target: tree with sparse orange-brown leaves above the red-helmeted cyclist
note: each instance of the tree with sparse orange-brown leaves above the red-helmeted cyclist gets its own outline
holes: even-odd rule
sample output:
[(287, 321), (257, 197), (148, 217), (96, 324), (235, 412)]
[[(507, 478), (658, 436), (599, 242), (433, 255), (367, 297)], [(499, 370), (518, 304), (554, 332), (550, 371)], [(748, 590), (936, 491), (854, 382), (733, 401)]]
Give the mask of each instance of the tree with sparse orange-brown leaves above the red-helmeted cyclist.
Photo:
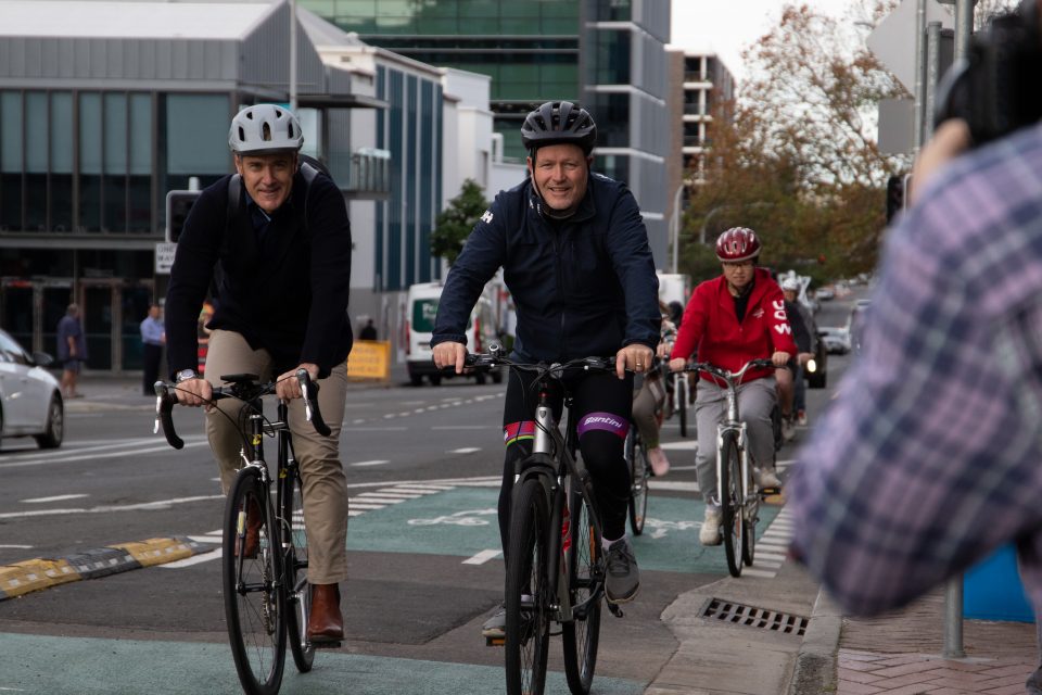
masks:
[(910, 164), (876, 143), (879, 101), (906, 96), (864, 41), (864, 27), (891, 8), (852, 2), (851, 18), (838, 21), (787, 4), (747, 49), (752, 77), (714, 114), (707, 182), (687, 210), (682, 253), (692, 277), (720, 271), (708, 244), (736, 225), (761, 233), (762, 262), (779, 270), (827, 279), (874, 267), (887, 178)]

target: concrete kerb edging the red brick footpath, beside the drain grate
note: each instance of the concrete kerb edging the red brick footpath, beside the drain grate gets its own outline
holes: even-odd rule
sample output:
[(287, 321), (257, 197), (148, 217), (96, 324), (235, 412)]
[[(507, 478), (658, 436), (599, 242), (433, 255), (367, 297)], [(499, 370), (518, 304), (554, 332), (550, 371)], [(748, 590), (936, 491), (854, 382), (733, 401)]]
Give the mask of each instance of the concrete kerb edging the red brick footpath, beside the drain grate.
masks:
[(839, 606), (821, 589), (796, 657), (788, 695), (836, 692), (836, 656), (842, 627), (843, 616)]

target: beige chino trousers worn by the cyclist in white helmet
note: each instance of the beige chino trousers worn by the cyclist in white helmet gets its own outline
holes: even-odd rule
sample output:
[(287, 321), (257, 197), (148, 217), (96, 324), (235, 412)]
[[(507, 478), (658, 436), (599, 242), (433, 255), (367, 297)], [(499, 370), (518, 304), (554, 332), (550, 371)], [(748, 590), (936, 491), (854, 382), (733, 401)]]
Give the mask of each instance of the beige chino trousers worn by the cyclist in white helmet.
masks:
[[(215, 387), (221, 386), (221, 375), (231, 374), (255, 374), (266, 381), (278, 376), (271, 374), (271, 356), (266, 350), (253, 350), (237, 332), (215, 330), (209, 336), (205, 374), (206, 380)], [(320, 379), (318, 384), (318, 407), (329, 425), (330, 435), (321, 437), (307, 421), (303, 399), (290, 401), (289, 419), (293, 452), (301, 467), (304, 489), (307, 579), (313, 584), (333, 584), (347, 579), (347, 478), (340, 463), (340, 428), (347, 397), (347, 363), (333, 368), (329, 377)], [(225, 494), (228, 494), (236, 471), (242, 466), (242, 435), (236, 427), (242, 407), (242, 403), (234, 399), (225, 399), (206, 414), (206, 435), (217, 458), (220, 488)], [(274, 451), (274, 447), (268, 448)], [(268, 463), (275, 466), (274, 460)], [(274, 475), (274, 468), (270, 470)]]

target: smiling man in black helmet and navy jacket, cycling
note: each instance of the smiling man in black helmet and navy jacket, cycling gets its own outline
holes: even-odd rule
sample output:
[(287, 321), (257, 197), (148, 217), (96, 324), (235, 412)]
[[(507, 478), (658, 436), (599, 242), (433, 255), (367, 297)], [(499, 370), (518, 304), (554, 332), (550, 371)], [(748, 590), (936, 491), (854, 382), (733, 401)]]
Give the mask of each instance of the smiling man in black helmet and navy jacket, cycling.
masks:
[[(623, 444), (630, 427), (633, 371), (651, 367), (661, 314), (658, 279), (636, 200), (624, 184), (590, 172), (597, 126), (567, 101), (547, 102), (521, 128), (529, 178), (500, 192), (453, 264), (437, 307), (434, 363), (463, 370), (467, 319), (501, 266), (517, 308), (513, 357), (564, 362), (617, 355), (615, 374), (570, 378), (579, 445), (603, 519), (608, 601), (631, 601), (639, 586), (625, 534), (630, 471)], [(628, 370), (628, 371), (627, 371)], [(506, 459), (499, 534), (508, 547), (514, 465), (532, 451), (531, 375), (510, 375), (503, 426)], [(560, 402), (557, 404), (560, 416)], [(483, 626), (504, 634), (500, 607)]]

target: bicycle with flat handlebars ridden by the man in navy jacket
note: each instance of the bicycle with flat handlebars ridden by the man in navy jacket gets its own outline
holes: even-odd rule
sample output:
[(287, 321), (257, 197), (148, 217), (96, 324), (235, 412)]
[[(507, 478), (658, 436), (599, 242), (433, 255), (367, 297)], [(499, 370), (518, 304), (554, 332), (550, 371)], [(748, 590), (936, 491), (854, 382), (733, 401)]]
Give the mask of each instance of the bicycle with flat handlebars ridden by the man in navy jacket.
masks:
[[(507, 366), (535, 374), (535, 441), (518, 464), (510, 506), (507, 548), (506, 678), (508, 695), (541, 695), (551, 630), (564, 643), (564, 674), (574, 695), (586, 695), (594, 679), (606, 558), (601, 523), (589, 472), (576, 459), (576, 415), (562, 379), (581, 370), (613, 371), (613, 358), (586, 357), (563, 364), (516, 363), (494, 345), (468, 354), (468, 367)], [(563, 392), (564, 434), (554, 420), (550, 399)], [(613, 615), (622, 610), (608, 604)]]

